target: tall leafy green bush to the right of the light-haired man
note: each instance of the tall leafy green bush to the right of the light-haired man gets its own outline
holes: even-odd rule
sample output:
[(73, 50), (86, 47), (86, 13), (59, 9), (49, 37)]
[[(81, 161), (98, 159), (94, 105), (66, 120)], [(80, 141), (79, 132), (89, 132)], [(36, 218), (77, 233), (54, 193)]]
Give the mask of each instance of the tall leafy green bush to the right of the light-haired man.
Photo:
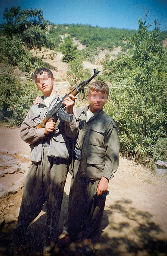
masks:
[(129, 40), (132, 48), (112, 60), (106, 56), (103, 79), (112, 86), (106, 111), (119, 127), (121, 152), (136, 161), (166, 161), (166, 63), (159, 44), (159, 24), (148, 31), (139, 20), (139, 29)]

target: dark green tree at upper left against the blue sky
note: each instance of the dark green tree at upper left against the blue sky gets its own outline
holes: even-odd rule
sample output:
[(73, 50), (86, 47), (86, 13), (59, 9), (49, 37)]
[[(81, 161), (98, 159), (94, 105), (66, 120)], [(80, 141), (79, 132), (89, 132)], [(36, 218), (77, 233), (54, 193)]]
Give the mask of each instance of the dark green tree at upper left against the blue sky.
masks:
[(3, 13), (5, 22), (1, 25), (6, 37), (13, 40), (20, 38), (27, 49), (41, 51), (42, 47), (54, 48), (54, 42), (47, 34), (47, 26), (50, 24), (43, 18), (42, 9), (21, 10), (20, 6), (14, 6)]

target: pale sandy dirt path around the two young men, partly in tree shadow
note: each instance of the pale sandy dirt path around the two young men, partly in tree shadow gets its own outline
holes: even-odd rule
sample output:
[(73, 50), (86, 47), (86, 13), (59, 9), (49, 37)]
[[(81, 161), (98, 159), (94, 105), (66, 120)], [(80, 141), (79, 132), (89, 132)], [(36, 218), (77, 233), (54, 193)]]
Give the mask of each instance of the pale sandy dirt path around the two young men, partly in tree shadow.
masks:
[[(17, 149), (19, 153), (29, 155), (29, 145), (19, 136), (20, 129), (0, 127), (0, 148)], [(6, 175), (12, 183), (12, 174)], [(0, 178), (3, 184), (4, 178)], [(165, 256), (167, 255), (167, 177), (157, 177), (141, 165), (120, 158), (120, 165), (114, 178), (109, 182), (110, 194), (101, 226), (101, 237), (95, 243), (96, 256)], [(63, 228), (67, 212), (70, 187), (70, 175), (64, 189), (64, 197), (57, 235)], [(0, 199), (1, 205), (13, 202), (6, 212), (18, 214), (22, 190)], [(4, 214), (4, 213), (3, 213)], [(2, 215), (3, 215), (2, 214)], [(42, 255), (43, 223), (46, 219), (45, 209), (28, 228), (29, 248), (21, 255)], [(11, 240), (11, 231), (16, 223), (5, 224), (0, 235), (0, 255), (15, 255)], [(55, 247), (52, 255), (82, 255), (80, 243), (73, 243), (68, 249)]]

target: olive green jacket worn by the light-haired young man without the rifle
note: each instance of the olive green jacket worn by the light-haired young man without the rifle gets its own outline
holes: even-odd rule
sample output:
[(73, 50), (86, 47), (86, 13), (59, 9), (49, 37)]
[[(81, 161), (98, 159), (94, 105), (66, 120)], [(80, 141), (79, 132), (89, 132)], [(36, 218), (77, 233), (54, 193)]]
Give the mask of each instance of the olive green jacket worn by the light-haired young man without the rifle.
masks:
[(110, 180), (119, 164), (118, 129), (114, 119), (103, 110), (86, 123), (87, 110), (88, 107), (76, 109), (79, 134), (75, 147), (81, 150), (77, 175), (93, 180), (104, 176)]

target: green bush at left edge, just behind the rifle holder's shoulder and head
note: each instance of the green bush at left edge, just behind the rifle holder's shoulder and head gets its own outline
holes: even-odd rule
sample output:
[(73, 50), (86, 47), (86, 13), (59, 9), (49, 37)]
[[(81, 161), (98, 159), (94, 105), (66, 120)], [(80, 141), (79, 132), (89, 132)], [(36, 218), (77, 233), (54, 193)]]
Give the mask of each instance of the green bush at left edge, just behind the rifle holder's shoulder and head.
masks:
[[(4, 72), (12, 73), (12, 69), (6, 67)], [(22, 84), (20, 79), (3, 73), (0, 73), (0, 86), (0, 119), (7, 117), (11, 125), (21, 125), (39, 89), (32, 82)]]

